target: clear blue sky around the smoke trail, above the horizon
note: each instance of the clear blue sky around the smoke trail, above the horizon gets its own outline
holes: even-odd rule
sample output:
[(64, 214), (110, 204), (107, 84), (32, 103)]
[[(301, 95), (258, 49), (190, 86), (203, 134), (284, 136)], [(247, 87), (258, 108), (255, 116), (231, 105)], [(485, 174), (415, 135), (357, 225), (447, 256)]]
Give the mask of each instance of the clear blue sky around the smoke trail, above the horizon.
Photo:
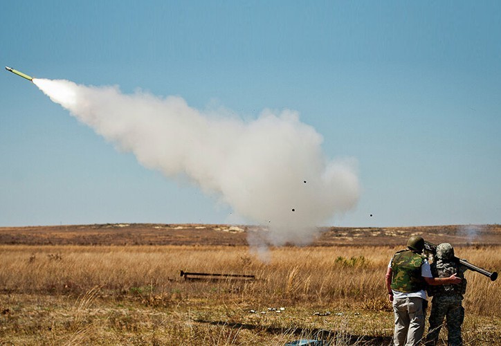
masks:
[[(0, 57), (247, 118), (299, 111), (329, 158), (358, 161), (361, 198), (333, 226), (499, 224), (500, 18), (499, 1), (18, 1)], [(228, 221), (26, 80), (3, 70), (0, 95), (0, 226)]]

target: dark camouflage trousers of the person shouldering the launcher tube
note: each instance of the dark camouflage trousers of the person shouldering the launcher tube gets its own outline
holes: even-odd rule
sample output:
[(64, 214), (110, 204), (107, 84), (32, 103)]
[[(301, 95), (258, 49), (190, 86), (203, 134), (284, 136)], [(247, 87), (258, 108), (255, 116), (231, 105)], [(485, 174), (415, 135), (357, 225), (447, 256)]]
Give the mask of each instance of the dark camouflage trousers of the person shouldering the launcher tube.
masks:
[(464, 308), (462, 307), (462, 295), (435, 295), (432, 300), (430, 313), (430, 327), (426, 336), (426, 345), (437, 345), (440, 329), (446, 325), (448, 330), (447, 341), (448, 345), (459, 346), (463, 345), (461, 338), (461, 325), (464, 320)]

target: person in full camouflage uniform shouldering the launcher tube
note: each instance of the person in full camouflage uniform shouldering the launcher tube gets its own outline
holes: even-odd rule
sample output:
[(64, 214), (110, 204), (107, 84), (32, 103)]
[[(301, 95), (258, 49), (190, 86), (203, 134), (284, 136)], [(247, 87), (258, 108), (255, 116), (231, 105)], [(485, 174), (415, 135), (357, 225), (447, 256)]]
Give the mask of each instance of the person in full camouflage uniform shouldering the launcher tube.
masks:
[(462, 306), (463, 295), (466, 292), (466, 279), (464, 272), (466, 266), (462, 266), (454, 260), (454, 248), (448, 243), (437, 245), (435, 258), (431, 265), (434, 277), (447, 277), (456, 273), (461, 277), (461, 284), (432, 286), (428, 294), (433, 296), (430, 318), (430, 327), (426, 336), (426, 345), (437, 345), (440, 329), (446, 318), (448, 330), (448, 345), (463, 345), (461, 338), (461, 325), (464, 320), (464, 308)]

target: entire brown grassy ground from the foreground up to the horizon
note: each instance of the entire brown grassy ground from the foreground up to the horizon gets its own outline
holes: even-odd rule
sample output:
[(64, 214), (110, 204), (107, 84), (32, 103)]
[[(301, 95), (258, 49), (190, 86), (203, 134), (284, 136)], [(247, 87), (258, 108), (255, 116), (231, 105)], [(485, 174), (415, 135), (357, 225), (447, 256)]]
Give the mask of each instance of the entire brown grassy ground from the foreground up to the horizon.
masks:
[[(225, 225), (0, 228), (0, 345), (283, 345), (316, 337), (389, 345), (383, 277), (411, 234), (450, 242), (477, 266), (501, 268), (499, 225), (326, 228), (311, 246), (258, 254), (246, 237), (259, 232)], [(257, 280), (185, 281), (181, 270)], [(500, 345), (501, 280), (466, 278), (465, 343)]]

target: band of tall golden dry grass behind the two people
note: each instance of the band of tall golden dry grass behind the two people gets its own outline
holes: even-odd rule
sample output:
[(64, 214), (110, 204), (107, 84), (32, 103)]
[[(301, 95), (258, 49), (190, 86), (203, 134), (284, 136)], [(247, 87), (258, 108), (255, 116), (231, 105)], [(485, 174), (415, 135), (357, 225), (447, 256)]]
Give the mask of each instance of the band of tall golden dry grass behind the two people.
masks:
[[(79, 296), (101, 291), (152, 307), (188, 298), (259, 304), (308, 304), (384, 310), (384, 274), (397, 248), (342, 246), (274, 248), (261, 262), (246, 247), (229, 246), (0, 246), (0, 289), (12, 293)], [(473, 264), (501, 267), (499, 247), (457, 248)], [(258, 280), (184, 282), (180, 270), (255, 275)], [(495, 316), (499, 281), (466, 273), (466, 310)]]

